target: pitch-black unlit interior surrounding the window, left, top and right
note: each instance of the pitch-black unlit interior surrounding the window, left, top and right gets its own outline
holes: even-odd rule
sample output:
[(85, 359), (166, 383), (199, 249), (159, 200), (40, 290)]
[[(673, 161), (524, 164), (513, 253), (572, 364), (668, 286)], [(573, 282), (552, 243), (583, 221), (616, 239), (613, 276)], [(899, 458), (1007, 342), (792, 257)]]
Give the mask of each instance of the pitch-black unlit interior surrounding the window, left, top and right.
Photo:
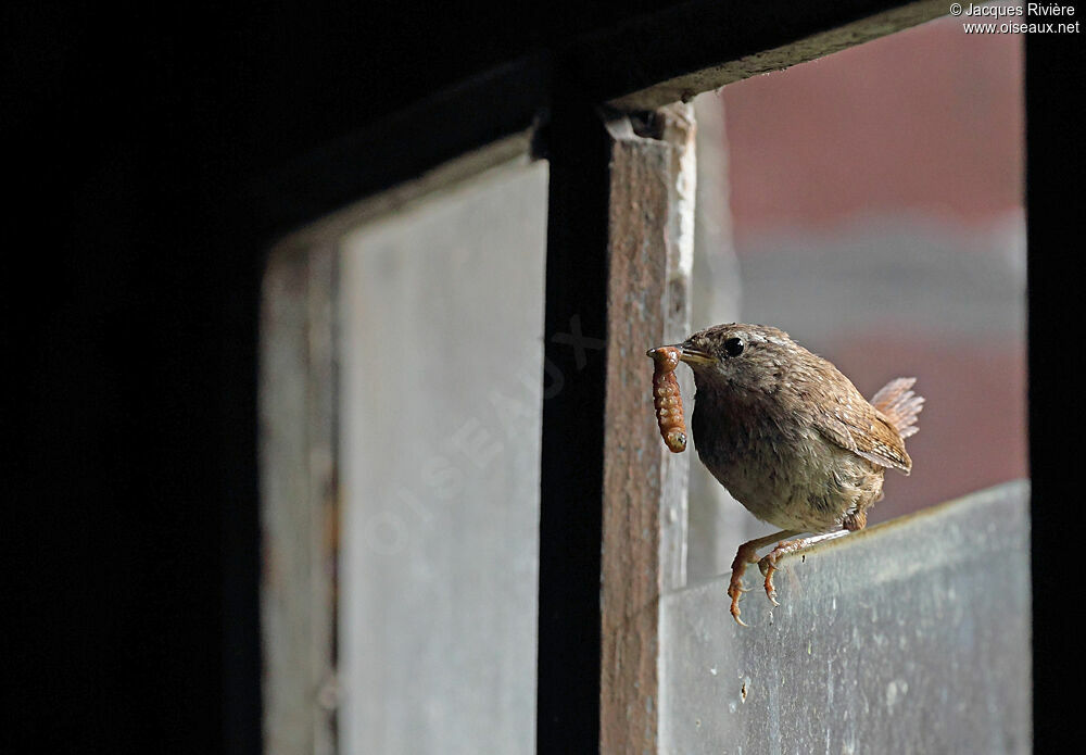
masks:
[[(632, 51), (621, 25), (708, 5), (4, 4), (3, 206), (15, 231), (4, 340), (17, 388), (2, 419), (14, 582), (4, 613), (15, 625), (3, 663), (11, 718), (35, 750), (258, 747), (256, 311), (270, 241), (454, 154), (479, 138), (480, 112), (513, 128), (618, 93), (628, 84), (614, 66), (593, 63), (608, 45), (640, 55), (649, 80), (680, 65), (685, 16), (657, 16), (667, 41)], [(767, 18), (779, 5), (712, 12), (730, 9), (757, 46), (798, 13)], [(596, 32), (610, 41), (583, 42)], [(1070, 325), (1082, 281), (1081, 46), (1035, 35), (1026, 48), (1038, 751), (1068, 705), (1049, 682), (1066, 657), (1059, 599), (1077, 586), (1058, 552), (1082, 523), (1058, 487), (1073, 445), (1057, 442), (1083, 426), (1068, 399), (1081, 362)], [(441, 121), (388, 125), (526, 55)], [(374, 136), (397, 131), (390, 144)], [(329, 168), (340, 148), (380, 156), (368, 173)], [(315, 189), (292, 178), (314, 172), (326, 176)]]

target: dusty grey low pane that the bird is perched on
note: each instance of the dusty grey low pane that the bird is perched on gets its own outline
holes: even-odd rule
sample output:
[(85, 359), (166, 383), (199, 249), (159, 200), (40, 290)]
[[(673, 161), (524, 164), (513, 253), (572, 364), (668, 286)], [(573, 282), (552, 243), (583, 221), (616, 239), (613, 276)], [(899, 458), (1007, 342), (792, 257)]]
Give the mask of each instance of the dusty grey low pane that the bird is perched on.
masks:
[(1030, 486), (1009, 482), (662, 601), (666, 753), (1025, 753)]

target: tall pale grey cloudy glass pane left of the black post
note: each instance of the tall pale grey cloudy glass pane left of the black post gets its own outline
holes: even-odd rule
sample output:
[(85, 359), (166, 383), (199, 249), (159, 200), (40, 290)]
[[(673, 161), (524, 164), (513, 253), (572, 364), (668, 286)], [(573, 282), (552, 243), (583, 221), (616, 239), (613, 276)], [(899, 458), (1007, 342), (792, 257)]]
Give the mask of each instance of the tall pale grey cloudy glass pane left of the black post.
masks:
[(340, 735), (531, 753), (545, 163), (342, 242)]

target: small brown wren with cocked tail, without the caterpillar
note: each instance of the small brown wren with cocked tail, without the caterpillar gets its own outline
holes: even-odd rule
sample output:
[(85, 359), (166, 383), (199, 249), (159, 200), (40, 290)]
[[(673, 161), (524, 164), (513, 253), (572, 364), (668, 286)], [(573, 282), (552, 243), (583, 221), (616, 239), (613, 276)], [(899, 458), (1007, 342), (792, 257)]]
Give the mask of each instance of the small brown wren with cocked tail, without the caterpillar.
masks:
[[(738, 600), (747, 565), (758, 564), (779, 605), (780, 556), (862, 529), (886, 469), (912, 469), (905, 439), (924, 400), (911, 390), (915, 378), (897, 378), (869, 402), (833, 364), (768, 326), (718, 325), (675, 348), (694, 373), (698, 457), (747, 511), (781, 528), (740, 545), (732, 562), (731, 614), (746, 626)], [(812, 537), (788, 540), (803, 533)]]

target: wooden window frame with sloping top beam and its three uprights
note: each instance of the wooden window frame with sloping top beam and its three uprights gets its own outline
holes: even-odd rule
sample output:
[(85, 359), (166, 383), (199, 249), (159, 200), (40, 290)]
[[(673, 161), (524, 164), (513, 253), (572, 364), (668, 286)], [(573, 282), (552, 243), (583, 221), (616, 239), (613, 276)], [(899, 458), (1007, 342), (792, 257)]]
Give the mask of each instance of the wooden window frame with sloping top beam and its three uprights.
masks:
[[(510, 159), (550, 161), (545, 358), (577, 379), (543, 408), (536, 747), (655, 751), (658, 707), (645, 701), (658, 700), (660, 592), (684, 583), (686, 460), (656, 443), (647, 474), (659, 485), (631, 491), (623, 482), (631, 450), (608, 433), (640, 401), (619, 388), (623, 375), (644, 368), (632, 345), (667, 340), (689, 322), (689, 270), (678, 266), (673, 224), (690, 134), (677, 116), (684, 105), (669, 103), (946, 12), (929, 0), (684, 3), (513, 61), (267, 181), (265, 211), (283, 232), (268, 256), (261, 315), (267, 752), (336, 751), (336, 239)], [(728, 30), (709, 34), (720, 29)], [(652, 227), (620, 211), (627, 189), (648, 190), (646, 176), (656, 183), (641, 200), (659, 210)], [(619, 274), (632, 237), (653, 238), (654, 262)], [(651, 318), (623, 340), (630, 318), (618, 304), (635, 290)], [(583, 365), (568, 338), (574, 318), (580, 332), (607, 341)], [(282, 416), (285, 404), (307, 406), (306, 420)], [(644, 475), (643, 462), (639, 468)], [(296, 511), (299, 498), (305, 511)], [(668, 524), (671, 509), (681, 511), (681, 527)], [(291, 570), (279, 578), (269, 564)], [(291, 631), (299, 615), (310, 625)], [(631, 616), (639, 618), (632, 632), (623, 629)], [(601, 637), (602, 645), (584, 640)], [(629, 647), (657, 650), (628, 663)], [(298, 729), (299, 721), (306, 723)]]

